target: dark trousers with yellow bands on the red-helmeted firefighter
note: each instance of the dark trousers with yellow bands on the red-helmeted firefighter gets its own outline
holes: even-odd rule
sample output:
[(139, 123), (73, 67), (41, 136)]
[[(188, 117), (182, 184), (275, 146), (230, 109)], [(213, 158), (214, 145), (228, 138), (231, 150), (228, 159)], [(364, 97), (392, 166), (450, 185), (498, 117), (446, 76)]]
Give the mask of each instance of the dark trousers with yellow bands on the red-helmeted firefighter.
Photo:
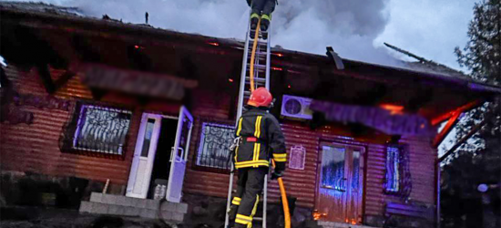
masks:
[(234, 227), (252, 227), (252, 218), (258, 210), (264, 176), (267, 173), (268, 167), (239, 169), (237, 195), (231, 201), (231, 204), (238, 206)]

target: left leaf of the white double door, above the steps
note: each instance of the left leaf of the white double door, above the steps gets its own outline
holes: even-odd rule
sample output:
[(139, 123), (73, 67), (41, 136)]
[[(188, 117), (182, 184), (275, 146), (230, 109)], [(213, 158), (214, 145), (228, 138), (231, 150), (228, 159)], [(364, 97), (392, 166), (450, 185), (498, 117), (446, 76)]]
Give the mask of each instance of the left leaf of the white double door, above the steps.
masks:
[(139, 127), (136, 150), (132, 159), (132, 167), (128, 177), (128, 197), (146, 199), (148, 195), (153, 161), (157, 151), (158, 135), (162, 117), (155, 114), (143, 113)]

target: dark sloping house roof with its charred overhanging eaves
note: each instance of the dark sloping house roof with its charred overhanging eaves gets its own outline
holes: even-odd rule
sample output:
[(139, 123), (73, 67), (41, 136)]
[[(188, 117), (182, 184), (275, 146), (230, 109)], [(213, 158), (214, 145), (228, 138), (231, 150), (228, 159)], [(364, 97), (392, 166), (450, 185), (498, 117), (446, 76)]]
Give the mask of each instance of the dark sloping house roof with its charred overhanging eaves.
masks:
[[(77, 8), (40, 3), (2, 2), (0, 12), (2, 30), (18, 33), (0, 34), (2, 43), (10, 44), (0, 49), (1, 55), (10, 61), (22, 63), (33, 58), (36, 62), (43, 58), (53, 67), (65, 67), (67, 62), (80, 59), (114, 67), (146, 67), (148, 71), (183, 77), (198, 75), (199, 85), (216, 84), (220, 88), (228, 86), (227, 77), (240, 75), (244, 44), (237, 39), (123, 23), (107, 16), (88, 17)], [(145, 48), (133, 55), (128, 50), (131, 45)], [(19, 57), (21, 49), (26, 55)], [(34, 50), (44, 56), (32, 57)], [(499, 87), (431, 62), (388, 67), (343, 59), (345, 69), (338, 70), (326, 56), (281, 47), (272, 47), (271, 51), (271, 85), (284, 85), (273, 88), (279, 95), (363, 105), (389, 102), (415, 106), (414, 111), (433, 118), (472, 100), (501, 93)]]

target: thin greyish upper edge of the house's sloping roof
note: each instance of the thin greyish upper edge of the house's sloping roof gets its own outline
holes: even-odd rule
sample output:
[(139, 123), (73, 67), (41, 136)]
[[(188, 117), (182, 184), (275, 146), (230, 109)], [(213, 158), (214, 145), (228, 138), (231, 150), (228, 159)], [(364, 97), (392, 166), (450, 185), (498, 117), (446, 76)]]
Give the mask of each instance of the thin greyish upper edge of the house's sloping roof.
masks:
[[(208, 44), (214, 42), (217, 43), (221, 49), (224, 47), (243, 49), (244, 47), (243, 41), (233, 38), (217, 38), (211, 36), (202, 36), (197, 34), (177, 32), (169, 29), (156, 28), (145, 24), (123, 23), (121, 22), (121, 20), (115, 20), (109, 18), (109, 16), (106, 15), (103, 16), (102, 18), (86, 16), (85, 12), (79, 10), (77, 7), (47, 5), (44, 3), (33, 3), (33, 2), (31, 3), (1, 2), (0, 10), (14, 14), (22, 14), (22, 15), (27, 14), (32, 16), (42, 16), (46, 18), (57, 17), (60, 19), (71, 20), (74, 23), (98, 24), (100, 26), (105, 26), (106, 29), (111, 29), (111, 28), (120, 29), (122, 31), (127, 31), (129, 34), (134, 33), (134, 34), (141, 34), (142, 36), (157, 36), (157, 37), (162, 37), (162, 39), (166, 40), (169, 40), (169, 38), (178, 40), (182, 39), (183, 42), (203, 42)], [(271, 51), (274, 53), (289, 55), (289, 57), (295, 59), (296, 61), (305, 61), (305, 60), (325, 61), (327, 59), (326, 56), (283, 49), (278, 46), (272, 47)], [(276, 63), (284, 63), (280, 58), (273, 59), (273, 61), (275, 61)], [(353, 70), (356, 70), (360, 67), (373, 67), (376, 69), (380, 69), (384, 72), (386, 72), (386, 70), (390, 71), (393, 70), (398, 72), (404, 72), (408, 75), (414, 75), (420, 78), (430, 78), (430, 79), (438, 79), (445, 82), (453, 82), (456, 85), (460, 85), (462, 87), (466, 86), (467, 88), (472, 88), (476, 90), (485, 90), (495, 93), (501, 93), (500, 87), (475, 81), (473, 78), (465, 76), (465, 74), (463, 74), (462, 72), (456, 71), (449, 67), (445, 67), (444, 65), (440, 65), (432, 61), (420, 60), (418, 62), (403, 62), (402, 67), (382, 66), (346, 58), (343, 58), (343, 62), (345, 62), (345, 65), (347, 65), (347, 67), (352, 66)], [(305, 67), (303, 66), (302, 68)]]

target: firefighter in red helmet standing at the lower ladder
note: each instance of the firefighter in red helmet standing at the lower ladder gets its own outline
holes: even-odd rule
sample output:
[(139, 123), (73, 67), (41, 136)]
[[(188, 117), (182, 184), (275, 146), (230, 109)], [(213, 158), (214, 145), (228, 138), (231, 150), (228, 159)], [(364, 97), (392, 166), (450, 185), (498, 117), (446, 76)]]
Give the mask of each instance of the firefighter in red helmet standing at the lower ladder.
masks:
[(257, 88), (249, 98), (248, 109), (242, 114), (236, 131), (240, 139), (234, 150), (234, 164), (238, 170), (237, 194), (229, 211), (233, 227), (252, 227), (263, 189), (264, 176), (270, 167), (270, 153), (275, 161), (271, 180), (282, 176), (287, 154), (279, 121), (267, 110), (271, 108), (271, 93)]

